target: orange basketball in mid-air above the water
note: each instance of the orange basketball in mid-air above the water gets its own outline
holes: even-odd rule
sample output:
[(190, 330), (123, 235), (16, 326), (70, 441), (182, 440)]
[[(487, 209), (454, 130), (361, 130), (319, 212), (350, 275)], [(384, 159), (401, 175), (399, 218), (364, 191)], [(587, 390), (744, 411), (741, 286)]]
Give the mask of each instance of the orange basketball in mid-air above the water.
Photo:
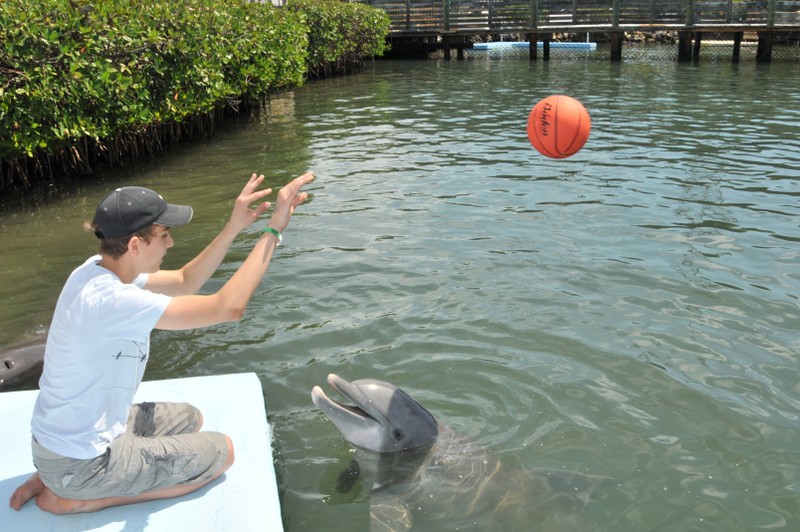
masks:
[(542, 155), (563, 159), (580, 150), (592, 129), (589, 113), (563, 94), (539, 101), (528, 115), (528, 139)]

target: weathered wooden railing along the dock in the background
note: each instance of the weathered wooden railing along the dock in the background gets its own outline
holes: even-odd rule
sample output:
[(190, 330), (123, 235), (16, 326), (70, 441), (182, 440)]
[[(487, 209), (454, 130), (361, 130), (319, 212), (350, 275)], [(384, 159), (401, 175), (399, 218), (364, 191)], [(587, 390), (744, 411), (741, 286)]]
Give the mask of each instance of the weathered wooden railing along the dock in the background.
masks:
[(393, 35), (608, 31), (636, 28), (800, 28), (800, 0), (361, 0)]

